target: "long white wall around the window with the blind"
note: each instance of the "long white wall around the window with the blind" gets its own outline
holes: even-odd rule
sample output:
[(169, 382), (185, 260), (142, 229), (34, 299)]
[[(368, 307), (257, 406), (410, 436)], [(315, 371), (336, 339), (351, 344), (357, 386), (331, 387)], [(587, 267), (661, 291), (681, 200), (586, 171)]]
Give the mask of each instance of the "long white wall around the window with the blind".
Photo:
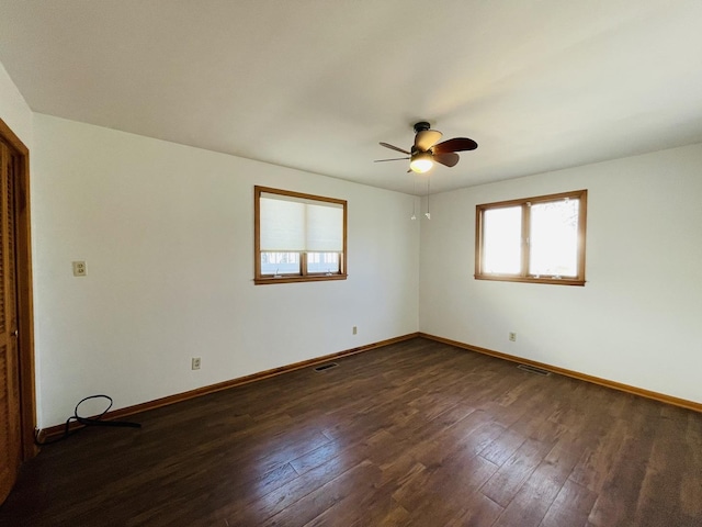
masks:
[[(418, 330), (412, 197), (42, 114), (34, 141), (42, 427)], [(253, 284), (254, 184), (348, 200), (348, 280)]]

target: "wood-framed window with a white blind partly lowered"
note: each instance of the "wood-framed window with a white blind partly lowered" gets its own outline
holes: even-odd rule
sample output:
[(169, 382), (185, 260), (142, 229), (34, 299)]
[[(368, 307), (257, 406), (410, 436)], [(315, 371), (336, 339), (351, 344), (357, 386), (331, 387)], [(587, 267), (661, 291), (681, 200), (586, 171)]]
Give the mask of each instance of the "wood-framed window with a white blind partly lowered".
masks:
[(257, 284), (344, 280), (347, 202), (254, 187)]

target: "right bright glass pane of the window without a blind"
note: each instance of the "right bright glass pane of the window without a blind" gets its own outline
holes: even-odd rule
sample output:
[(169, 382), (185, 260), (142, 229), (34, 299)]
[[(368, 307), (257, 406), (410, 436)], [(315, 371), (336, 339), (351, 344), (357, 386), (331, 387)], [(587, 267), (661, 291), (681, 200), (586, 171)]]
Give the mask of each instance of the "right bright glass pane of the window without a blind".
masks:
[(530, 274), (578, 276), (579, 203), (566, 199), (531, 206)]

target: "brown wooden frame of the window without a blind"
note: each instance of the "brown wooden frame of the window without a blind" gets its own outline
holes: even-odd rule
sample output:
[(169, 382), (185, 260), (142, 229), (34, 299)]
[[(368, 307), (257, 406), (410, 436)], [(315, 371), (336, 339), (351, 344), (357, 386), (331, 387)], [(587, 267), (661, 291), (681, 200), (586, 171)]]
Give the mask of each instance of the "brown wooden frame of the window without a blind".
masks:
[[(529, 233), (530, 233), (530, 206), (534, 203), (546, 203), (551, 201), (559, 201), (564, 199), (577, 199), (580, 204), (578, 208), (578, 255), (577, 266), (578, 274), (576, 277), (558, 276), (535, 276), (529, 273)], [(475, 208), (475, 279), (476, 280), (497, 280), (503, 282), (529, 282), (529, 283), (550, 283), (556, 285), (585, 285), (585, 242), (587, 227), (587, 190), (575, 190), (570, 192), (561, 192), (557, 194), (539, 195), (534, 198), (523, 198), (518, 200), (500, 201), (496, 203), (485, 203)], [(484, 225), (483, 217), (485, 211), (491, 209), (501, 209), (508, 206), (521, 206), (522, 209), (522, 231), (521, 231), (521, 270), (517, 274), (498, 274), (488, 273), (483, 270), (483, 243), (484, 243)]]

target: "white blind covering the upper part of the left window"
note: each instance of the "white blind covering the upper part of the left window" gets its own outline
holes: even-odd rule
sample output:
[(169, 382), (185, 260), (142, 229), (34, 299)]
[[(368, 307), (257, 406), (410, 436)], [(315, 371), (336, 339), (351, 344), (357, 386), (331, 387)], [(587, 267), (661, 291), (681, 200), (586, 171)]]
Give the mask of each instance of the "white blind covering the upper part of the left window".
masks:
[(262, 251), (340, 253), (343, 205), (262, 192)]

